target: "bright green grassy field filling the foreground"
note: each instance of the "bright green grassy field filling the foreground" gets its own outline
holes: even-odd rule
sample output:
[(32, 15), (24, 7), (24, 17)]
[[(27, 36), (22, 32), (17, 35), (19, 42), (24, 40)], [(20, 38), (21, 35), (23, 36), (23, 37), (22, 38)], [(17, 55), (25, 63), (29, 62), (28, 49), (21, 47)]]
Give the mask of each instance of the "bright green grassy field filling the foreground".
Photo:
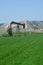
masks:
[(0, 38), (0, 65), (43, 65), (43, 34)]

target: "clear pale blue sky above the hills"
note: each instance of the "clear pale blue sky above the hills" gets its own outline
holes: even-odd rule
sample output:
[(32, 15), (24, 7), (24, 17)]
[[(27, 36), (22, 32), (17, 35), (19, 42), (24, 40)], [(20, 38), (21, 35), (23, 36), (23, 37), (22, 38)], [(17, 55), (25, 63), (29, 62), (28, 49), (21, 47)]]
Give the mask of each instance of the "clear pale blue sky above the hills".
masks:
[(43, 20), (43, 0), (0, 0), (0, 22)]

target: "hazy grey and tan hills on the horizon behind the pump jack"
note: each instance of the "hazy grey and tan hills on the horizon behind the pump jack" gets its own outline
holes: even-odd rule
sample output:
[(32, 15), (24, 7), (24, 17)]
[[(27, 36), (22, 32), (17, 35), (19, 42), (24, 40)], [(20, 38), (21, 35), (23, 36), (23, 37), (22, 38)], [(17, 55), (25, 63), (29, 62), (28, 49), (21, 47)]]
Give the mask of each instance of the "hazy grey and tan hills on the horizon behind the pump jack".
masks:
[[(34, 31), (35, 29), (40, 29), (39, 32), (43, 32), (43, 21), (29, 21), (29, 20), (24, 20), (24, 21), (20, 21), (20, 23), (24, 23), (25, 24), (25, 29), (26, 31)], [(6, 31), (8, 26), (10, 23), (2, 23), (0, 24), (0, 30), (4, 30)], [(13, 25), (12, 25), (13, 26)], [(13, 28), (14, 30), (17, 29), (17, 26), (14, 25)], [(20, 27), (20, 29), (22, 29), (22, 27)]]

